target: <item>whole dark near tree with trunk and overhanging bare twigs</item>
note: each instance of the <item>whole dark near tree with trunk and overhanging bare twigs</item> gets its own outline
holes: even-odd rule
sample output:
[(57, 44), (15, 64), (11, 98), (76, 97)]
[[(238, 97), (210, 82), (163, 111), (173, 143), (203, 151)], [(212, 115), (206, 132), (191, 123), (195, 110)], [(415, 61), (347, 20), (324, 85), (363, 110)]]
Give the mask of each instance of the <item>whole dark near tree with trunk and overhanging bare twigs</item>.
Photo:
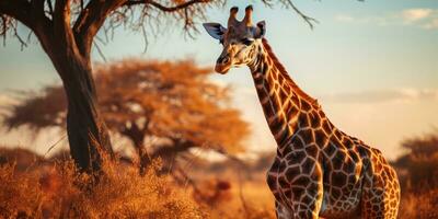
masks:
[[(20, 22), (36, 36), (66, 91), (70, 153), (81, 171), (92, 172), (100, 170), (102, 152), (112, 153), (92, 78), (90, 53), (97, 32), (104, 26), (107, 33), (127, 23), (134, 31), (145, 30), (141, 28), (145, 23), (159, 23), (161, 16), (181, 22), (189, 31), (194, 30), (197, 19), (205, 16), (208, 7), (220, 7), (226, 1), (0, 0), (0, 35), (5, 38), (11, 34), (25, 45), (26, 41), (18, 32)], [(302, 14), (291, 0), (262, 2), (269, 7), (276, 3), (289, 7), (312, 26), (314, 20)]]

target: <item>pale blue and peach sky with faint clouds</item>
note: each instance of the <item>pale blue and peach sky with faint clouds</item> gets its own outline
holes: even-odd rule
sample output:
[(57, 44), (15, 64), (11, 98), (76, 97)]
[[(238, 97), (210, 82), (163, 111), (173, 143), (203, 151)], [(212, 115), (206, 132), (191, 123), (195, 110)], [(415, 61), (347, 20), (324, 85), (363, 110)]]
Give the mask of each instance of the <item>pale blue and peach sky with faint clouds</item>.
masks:
[[(291, 78), (319, 100), (339, 129), (394, 159), (404, 152), (403, 139), (438, 127), (438, 1), (296, 0), (301, 11), (319, 21), (311, 30), (290, 9), (231, 0), (224, 8), (209, 9), (208, 21), (226, 25), (232, 5), (240, 7), (243, 18), (249, 2), (254, 5), (254, 21), (266, 21), (266, 38)], [(188, 57), (212, 67), (221, 46), (200, 23), (198, 27), (195, 38), (186, 37), (180, 26), (165, 28), (148, 38), (146, 53), (141, 34), (119, 30), (102, 50), (107, 62)], [(105, 64), (95, 49), (93, 61)], [(253, 130), (249, 150), (275, 150), (249, 69), (232, 69), (212, 80), (233, 88), (233, 105)], [(11, 90), (54, 82), (59, 77), (36, 39), (23, 50), (12, 38), (0, 47), (0, 105), (11, 101)], [(42, 152), (58, 140), (47, 136), (31, 140), (23, 131), (0, 132), (0, 143)]]

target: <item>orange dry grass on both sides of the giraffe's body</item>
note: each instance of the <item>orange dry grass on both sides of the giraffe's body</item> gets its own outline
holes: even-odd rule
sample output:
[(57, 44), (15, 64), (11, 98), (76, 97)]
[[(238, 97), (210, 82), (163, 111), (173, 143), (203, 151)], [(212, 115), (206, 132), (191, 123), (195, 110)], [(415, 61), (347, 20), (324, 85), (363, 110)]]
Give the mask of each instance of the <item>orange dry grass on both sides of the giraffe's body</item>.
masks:
[[(0, 218), (275, 218), (265, 171), (240, 182), (237, 171), (192, 170), (204, 196), (199, 199), (191, 186), (158, 176), (154, 169), (140, 176), (132, 165), (105, 162), (105, 176), (90, 187), (92, 178), (78, 174), (71, 161), (31, 159), (28, 165), (27, 159), (24, 164), (15, 157), (3, 160), (8, 162), (0, 164)], [(438, 218), (435, 184), (406, 182), (399, 218)]]

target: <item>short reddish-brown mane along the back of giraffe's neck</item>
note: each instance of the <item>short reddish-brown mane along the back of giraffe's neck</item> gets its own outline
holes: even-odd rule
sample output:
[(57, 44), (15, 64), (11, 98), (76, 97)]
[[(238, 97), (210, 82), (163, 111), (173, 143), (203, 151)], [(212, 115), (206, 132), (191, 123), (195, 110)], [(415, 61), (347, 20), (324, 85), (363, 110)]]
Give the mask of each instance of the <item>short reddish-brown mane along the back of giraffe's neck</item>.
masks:
[(313, 99), (309, 94), (307, 94), (303, 90), (301, 90), (298, 84), (290, 78), (289, 73), (287, 72), (286, 68), (281, 65), (281, 62), (278, 60), (277, 56), (275, 56), (273, 48), (270, 45), (267, 43), (266, 38), (262, 38), (262, 44), (263, 47), (266, 49), (268, 56), (273, 59), (274, 66), (280, 71), (283, 77), (289, 82), (289, 84), (292, 87), (293, 91), (298, 93), (301, 97), (303, 97), (306, 101), (310, 102), (313, 106), (318, 106), (318, 100)]

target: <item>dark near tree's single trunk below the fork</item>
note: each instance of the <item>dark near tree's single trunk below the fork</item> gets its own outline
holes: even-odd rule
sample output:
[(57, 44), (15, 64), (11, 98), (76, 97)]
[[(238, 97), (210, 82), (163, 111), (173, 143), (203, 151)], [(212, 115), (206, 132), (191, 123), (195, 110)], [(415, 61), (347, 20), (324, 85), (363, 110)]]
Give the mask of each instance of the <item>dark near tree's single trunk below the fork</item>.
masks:
[[(99, 112), (90, 60), (72, 53), (50, 56), (62, 79), (68, 101), (70, 154), (81, 172), (99, 173), (105, 157), (113, 158), (108, 129)], [(56, 103), (54, 103), (56, 104)]]

